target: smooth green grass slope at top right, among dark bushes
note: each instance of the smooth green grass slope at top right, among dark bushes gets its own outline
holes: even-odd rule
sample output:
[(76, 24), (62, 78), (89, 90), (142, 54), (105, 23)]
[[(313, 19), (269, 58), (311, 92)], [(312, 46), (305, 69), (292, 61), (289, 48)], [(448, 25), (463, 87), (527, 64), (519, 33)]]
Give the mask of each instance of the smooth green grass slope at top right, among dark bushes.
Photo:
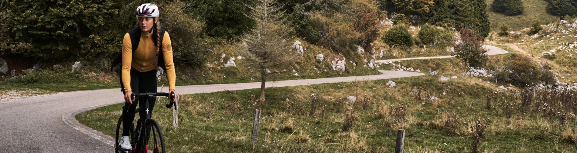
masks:
[(545, 6), (547, 2), (543, 0), (523, 0), (523, 6), (525, 7), (524, 13), (519, 16), (507, 16), (502, 13), (493, 12), (490, 9), (493, 0), (487, 0), (487, 13), (489, 14), (490, 27), (493, 32), (499, 31), (499, 26), (501, 22), (509, 25), (511, 30), (521, 30), (524, 28), (529, 28), (531, 22), (535, 19), (541, 21), (541, 24), (545, 25), (548, 22), (559, 21), (559, 17), (547, 14)]

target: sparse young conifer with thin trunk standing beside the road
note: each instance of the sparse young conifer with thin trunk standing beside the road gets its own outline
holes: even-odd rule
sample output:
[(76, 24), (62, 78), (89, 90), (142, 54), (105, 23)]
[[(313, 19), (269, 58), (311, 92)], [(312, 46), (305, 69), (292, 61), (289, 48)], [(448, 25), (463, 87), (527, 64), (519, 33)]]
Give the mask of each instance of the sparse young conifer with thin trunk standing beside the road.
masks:
[(253, 12), (246, 15), (255, 21), (249, 32), (242, 36), (239, 52), (246, 58), (246, 65), (258, 70), (261, 76), (260, 101), (264, 101), (264, 87), (271, 71), (280, 70), (299, 58), (287, 40), (289, 36), (286, 18), (273, 0), (258, 0)]

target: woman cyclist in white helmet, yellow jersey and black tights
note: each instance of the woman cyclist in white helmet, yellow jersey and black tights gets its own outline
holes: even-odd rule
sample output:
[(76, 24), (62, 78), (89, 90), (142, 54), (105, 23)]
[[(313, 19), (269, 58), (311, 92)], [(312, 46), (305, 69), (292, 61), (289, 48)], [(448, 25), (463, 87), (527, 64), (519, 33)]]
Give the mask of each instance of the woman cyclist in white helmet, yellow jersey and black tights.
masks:
[[(124, 150), (132, 149), (129, 137), (130, 127), (132, 127), (130, 124), (134, 121), (134, 110), (136, 110), (136, 104), (138, 104), (139, 101), (138, 97), (132, 99), (130, 95), (132, 93), (156, 93), (158, 86), (156, 82), (156, 68), (162, 65), (166, 68), (169, 93), (174, 91), (176, 75), (174, 71), (173, 49), (168, 33), (159, 26), (159, 14), (158, 6), (152, 3), (145, 3), (138, 6), (136, 9), (138, 27), (126, 33), (122, 41), (121, 79), (123, 91), (125, 92), (125, 108), (128, 108), (122, 111), (122, 126), (124, 129), (120, 146)], [(140, 39), (140, 41), (132, 39)], [(161, 63), (159, 64), (159, 62)], [(176, 98), (178, 95), (175, 94), (174, 97)], [(170, 100), (170, 98), (169, 95), (168, 99)], [(134, 100), (134, 103), (132, 100)], [(155, 98), (149, 98), (148, 102), (150, 111), (152, 112), (156, 100)], [(144, 101), (140, 101), (140, 103), (144, 105)], [(145, 118), (145, 115), (145, 113), (140, 113), (141, 118)]]

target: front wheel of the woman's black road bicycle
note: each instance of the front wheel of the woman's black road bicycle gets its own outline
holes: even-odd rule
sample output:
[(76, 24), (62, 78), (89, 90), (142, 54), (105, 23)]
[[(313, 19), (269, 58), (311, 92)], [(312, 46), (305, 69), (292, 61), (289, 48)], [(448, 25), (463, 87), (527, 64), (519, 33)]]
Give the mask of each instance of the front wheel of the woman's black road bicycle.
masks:
[(143, 137), (141, 144), (143, 152), (153, 152), (153, 153), (166, 153), (164, 148), (164, 137), (162, 136), (162, 131), (160, 131), (160, 126), (155, 120), (148, 119), (146, 121), (146, 135)]

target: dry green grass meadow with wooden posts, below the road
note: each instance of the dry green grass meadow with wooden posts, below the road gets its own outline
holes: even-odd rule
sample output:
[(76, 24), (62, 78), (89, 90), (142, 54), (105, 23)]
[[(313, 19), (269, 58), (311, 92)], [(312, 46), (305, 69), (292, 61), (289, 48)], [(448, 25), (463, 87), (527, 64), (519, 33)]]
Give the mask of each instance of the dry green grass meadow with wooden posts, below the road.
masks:
[[(252, 95), (258, 95), (258, 89), (182, 95), (179, 128), (171, 127), (171, 112), (166, 108), (157, 107), (153, 118), (162, 127), (168, 152), (394, 152), (399, 128), (407, 129), (405, 152), (469, 152), (472, 140), (468, 127), (475, 118), (488, 121), (486, 136), (479, 144), (481, 152), (577, 151), (574, 143), (563, 138), (572, 129), (567, 126), (577, 125), (576, 121), (571, 119), (561, 126), (555, 118), (516, 111), (507, 118), (500, 102), (491, 110), (485, 109), (485, 95), (492, 89), (437, 79), (391, 79), (396, 88), (385, 86), (389, 80), (272, 87), (267, 89), (265, 106), (253, 105)], [(414, 93), (419, 88), (421, 97), (440, 100), (418, 100)], [(310, 94), (322, 99), (316, 118), (308, 116)], [(366, 109), (362, 109), (364, 95), (370, 98)], [(499, 101), (509, 101), (510, 94), (499, 95)], [(358, 100), (346, 104), (347, 96)], [(285, 101), (287, 98), (290, 101)], [(407, 105), (406, 124), (395, 121), (392, 110), (398, 104)], [(76, 117), (80, 123), (114, 136), (122, 105), (104, 106)], [(256, 144), (250, 143), (254, 108), (263, 110)], [(346, 108), (355, 112), (350, 131), (341, 128)], [(454, 132), (443, 130), (447, 113), (461, 117)], [(289, 120), (293, 124), (288, 124)], [(308, 141), (298, 143), (298, 139)]]

